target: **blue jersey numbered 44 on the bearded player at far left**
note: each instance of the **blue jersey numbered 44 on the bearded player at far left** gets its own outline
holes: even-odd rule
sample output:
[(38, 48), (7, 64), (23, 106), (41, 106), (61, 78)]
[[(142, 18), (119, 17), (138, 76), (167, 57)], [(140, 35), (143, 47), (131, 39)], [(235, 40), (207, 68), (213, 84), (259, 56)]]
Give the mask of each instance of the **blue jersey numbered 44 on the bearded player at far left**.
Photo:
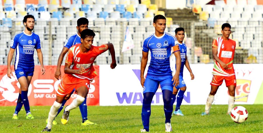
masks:
[(16, 50), (15, 70), (23, 68), (24, 70), (34, 71), (34, 49), (41, 48), (37, 34), (32, 32), (31, 35), (27, 35), (24, 31), (15, 34), (10, 48)]

